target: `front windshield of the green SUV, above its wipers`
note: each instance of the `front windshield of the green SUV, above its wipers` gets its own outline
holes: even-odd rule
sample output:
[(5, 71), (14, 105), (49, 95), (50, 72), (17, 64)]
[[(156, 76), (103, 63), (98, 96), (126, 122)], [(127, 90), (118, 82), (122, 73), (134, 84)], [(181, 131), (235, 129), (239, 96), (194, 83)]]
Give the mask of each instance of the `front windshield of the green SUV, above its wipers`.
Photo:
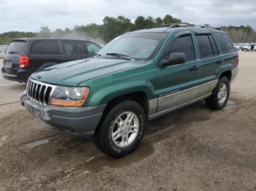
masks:
[(124, 34), (109, 42), (97, 52), (102, 56), (127, 55), (133, 59), (147, 59), (161, 45), (167, 33)]

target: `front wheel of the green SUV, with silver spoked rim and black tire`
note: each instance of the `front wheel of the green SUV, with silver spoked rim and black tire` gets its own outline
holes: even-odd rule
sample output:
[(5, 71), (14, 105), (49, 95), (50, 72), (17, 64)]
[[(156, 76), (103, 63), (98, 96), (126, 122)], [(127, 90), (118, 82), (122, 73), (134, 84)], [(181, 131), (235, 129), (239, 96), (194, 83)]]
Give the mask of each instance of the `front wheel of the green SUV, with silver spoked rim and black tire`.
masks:
[(108, 112), (94, 134), (98, 149), (110, 157), (124, 157), (143, 139), (146, 115), (135, 101), (123, 101)]

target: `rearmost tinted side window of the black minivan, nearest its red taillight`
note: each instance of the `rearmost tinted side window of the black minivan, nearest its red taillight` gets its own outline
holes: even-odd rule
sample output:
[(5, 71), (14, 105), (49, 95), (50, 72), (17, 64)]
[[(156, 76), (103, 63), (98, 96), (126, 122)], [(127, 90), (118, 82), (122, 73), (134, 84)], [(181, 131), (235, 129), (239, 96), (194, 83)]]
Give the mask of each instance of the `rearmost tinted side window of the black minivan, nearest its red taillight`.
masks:
[(59, 54), (59, 45), (56, 40), (39, 40), (34, 42), (31, 53), (36, 54)]

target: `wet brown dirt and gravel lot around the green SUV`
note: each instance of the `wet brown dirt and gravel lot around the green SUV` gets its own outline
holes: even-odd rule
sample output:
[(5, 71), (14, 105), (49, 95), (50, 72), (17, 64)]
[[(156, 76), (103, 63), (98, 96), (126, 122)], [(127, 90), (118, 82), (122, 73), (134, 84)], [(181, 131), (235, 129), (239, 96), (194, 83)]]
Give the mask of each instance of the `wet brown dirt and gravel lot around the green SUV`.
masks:
[(256, 190), (256, 52), (240, 55), (224, 110), (200, 101), (160, 117), (119, 160), (32, 117), (26, 85), (0, 78), (0, 190)]

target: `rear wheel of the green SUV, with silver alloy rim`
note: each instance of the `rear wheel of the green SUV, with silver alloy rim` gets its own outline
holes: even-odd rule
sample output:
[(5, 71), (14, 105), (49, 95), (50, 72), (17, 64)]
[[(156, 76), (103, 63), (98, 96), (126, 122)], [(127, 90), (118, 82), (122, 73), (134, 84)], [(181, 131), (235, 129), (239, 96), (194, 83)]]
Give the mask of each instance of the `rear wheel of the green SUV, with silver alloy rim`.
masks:
[(227, 105), (230, 97), (230, 81), (227, 77), (219, 79), (214, 92), (209, 98), (206, 98), (206, 105), (215, 110), (223, 109)]

